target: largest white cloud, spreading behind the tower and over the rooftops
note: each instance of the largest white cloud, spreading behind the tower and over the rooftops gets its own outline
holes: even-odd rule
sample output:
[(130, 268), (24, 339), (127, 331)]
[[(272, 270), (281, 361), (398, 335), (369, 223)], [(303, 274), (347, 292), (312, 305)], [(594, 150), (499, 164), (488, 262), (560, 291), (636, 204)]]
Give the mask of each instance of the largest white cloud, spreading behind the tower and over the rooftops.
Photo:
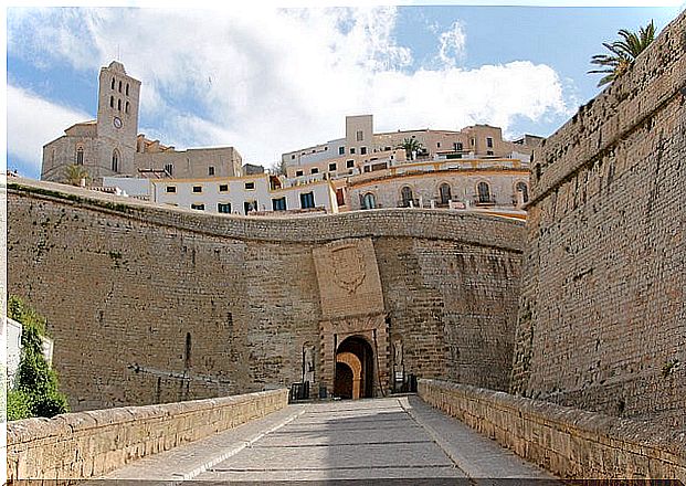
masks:
[(456, 67), (460, 22), (439, 36), (441, 62), (413, 72), (412, 52), (393, 38), (397, 14), (386, 7), (10, 11), (8, 50), (88, 76), (118, 51), (143, 81), (140, 125), (163, 134), (160, 141), (233, 145), (257, 163), (342, 136), (345, 115), (373, 113), (378, 129), (490, 123), (507, 130), (517, 116), (566, 113), (549, 66)]

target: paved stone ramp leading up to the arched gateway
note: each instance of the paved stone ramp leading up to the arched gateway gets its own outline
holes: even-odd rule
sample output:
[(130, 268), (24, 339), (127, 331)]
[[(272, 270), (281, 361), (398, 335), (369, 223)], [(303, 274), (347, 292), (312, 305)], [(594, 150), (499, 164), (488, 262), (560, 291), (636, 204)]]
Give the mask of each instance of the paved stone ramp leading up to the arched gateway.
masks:
[(497, 484), (487, 478), (520, 478), (507, 484), (525, 485), (534, 478), (552, 479), (416, 397), (289, 405), (105, 478), (145, 479), (150, 482), (146, 486), (190, 479), (208, 485), (356, 479)]

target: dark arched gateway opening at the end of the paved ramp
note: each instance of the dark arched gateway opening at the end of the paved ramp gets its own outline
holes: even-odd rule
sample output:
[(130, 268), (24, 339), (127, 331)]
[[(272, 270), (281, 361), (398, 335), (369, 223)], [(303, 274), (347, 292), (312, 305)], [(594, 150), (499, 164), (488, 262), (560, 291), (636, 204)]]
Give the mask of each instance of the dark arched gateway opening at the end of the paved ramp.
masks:
[(369, 342), (351, 336), (336, 352), (334, 393), (341, 398), (371, 398), (374, 392), (374, 356)]

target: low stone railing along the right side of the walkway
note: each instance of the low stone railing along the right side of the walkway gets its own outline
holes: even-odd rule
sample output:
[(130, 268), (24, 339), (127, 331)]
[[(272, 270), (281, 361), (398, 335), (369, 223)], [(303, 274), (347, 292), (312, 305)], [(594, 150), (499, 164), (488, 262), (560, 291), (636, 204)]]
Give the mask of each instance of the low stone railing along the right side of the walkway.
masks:
[(562, 478), (680, 479), (686, 432), (439, 380), (426, 403)]

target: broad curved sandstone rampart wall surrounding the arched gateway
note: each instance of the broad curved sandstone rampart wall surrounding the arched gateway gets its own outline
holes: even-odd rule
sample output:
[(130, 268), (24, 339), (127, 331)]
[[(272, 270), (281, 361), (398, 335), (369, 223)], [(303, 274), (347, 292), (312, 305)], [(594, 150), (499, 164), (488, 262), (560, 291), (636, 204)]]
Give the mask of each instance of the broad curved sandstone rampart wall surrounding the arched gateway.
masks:
[(289, 387), (312, 347), (312, 388), (330, 391), (334, 342), (351, 335), (376, 355), (376, 394), (398, 340), (407, 373), (508, 387), (519, 222), (221, 216), (28, 180), (9, 184), (8, 215), (9, 292), (48, 318), (75, 411)]

